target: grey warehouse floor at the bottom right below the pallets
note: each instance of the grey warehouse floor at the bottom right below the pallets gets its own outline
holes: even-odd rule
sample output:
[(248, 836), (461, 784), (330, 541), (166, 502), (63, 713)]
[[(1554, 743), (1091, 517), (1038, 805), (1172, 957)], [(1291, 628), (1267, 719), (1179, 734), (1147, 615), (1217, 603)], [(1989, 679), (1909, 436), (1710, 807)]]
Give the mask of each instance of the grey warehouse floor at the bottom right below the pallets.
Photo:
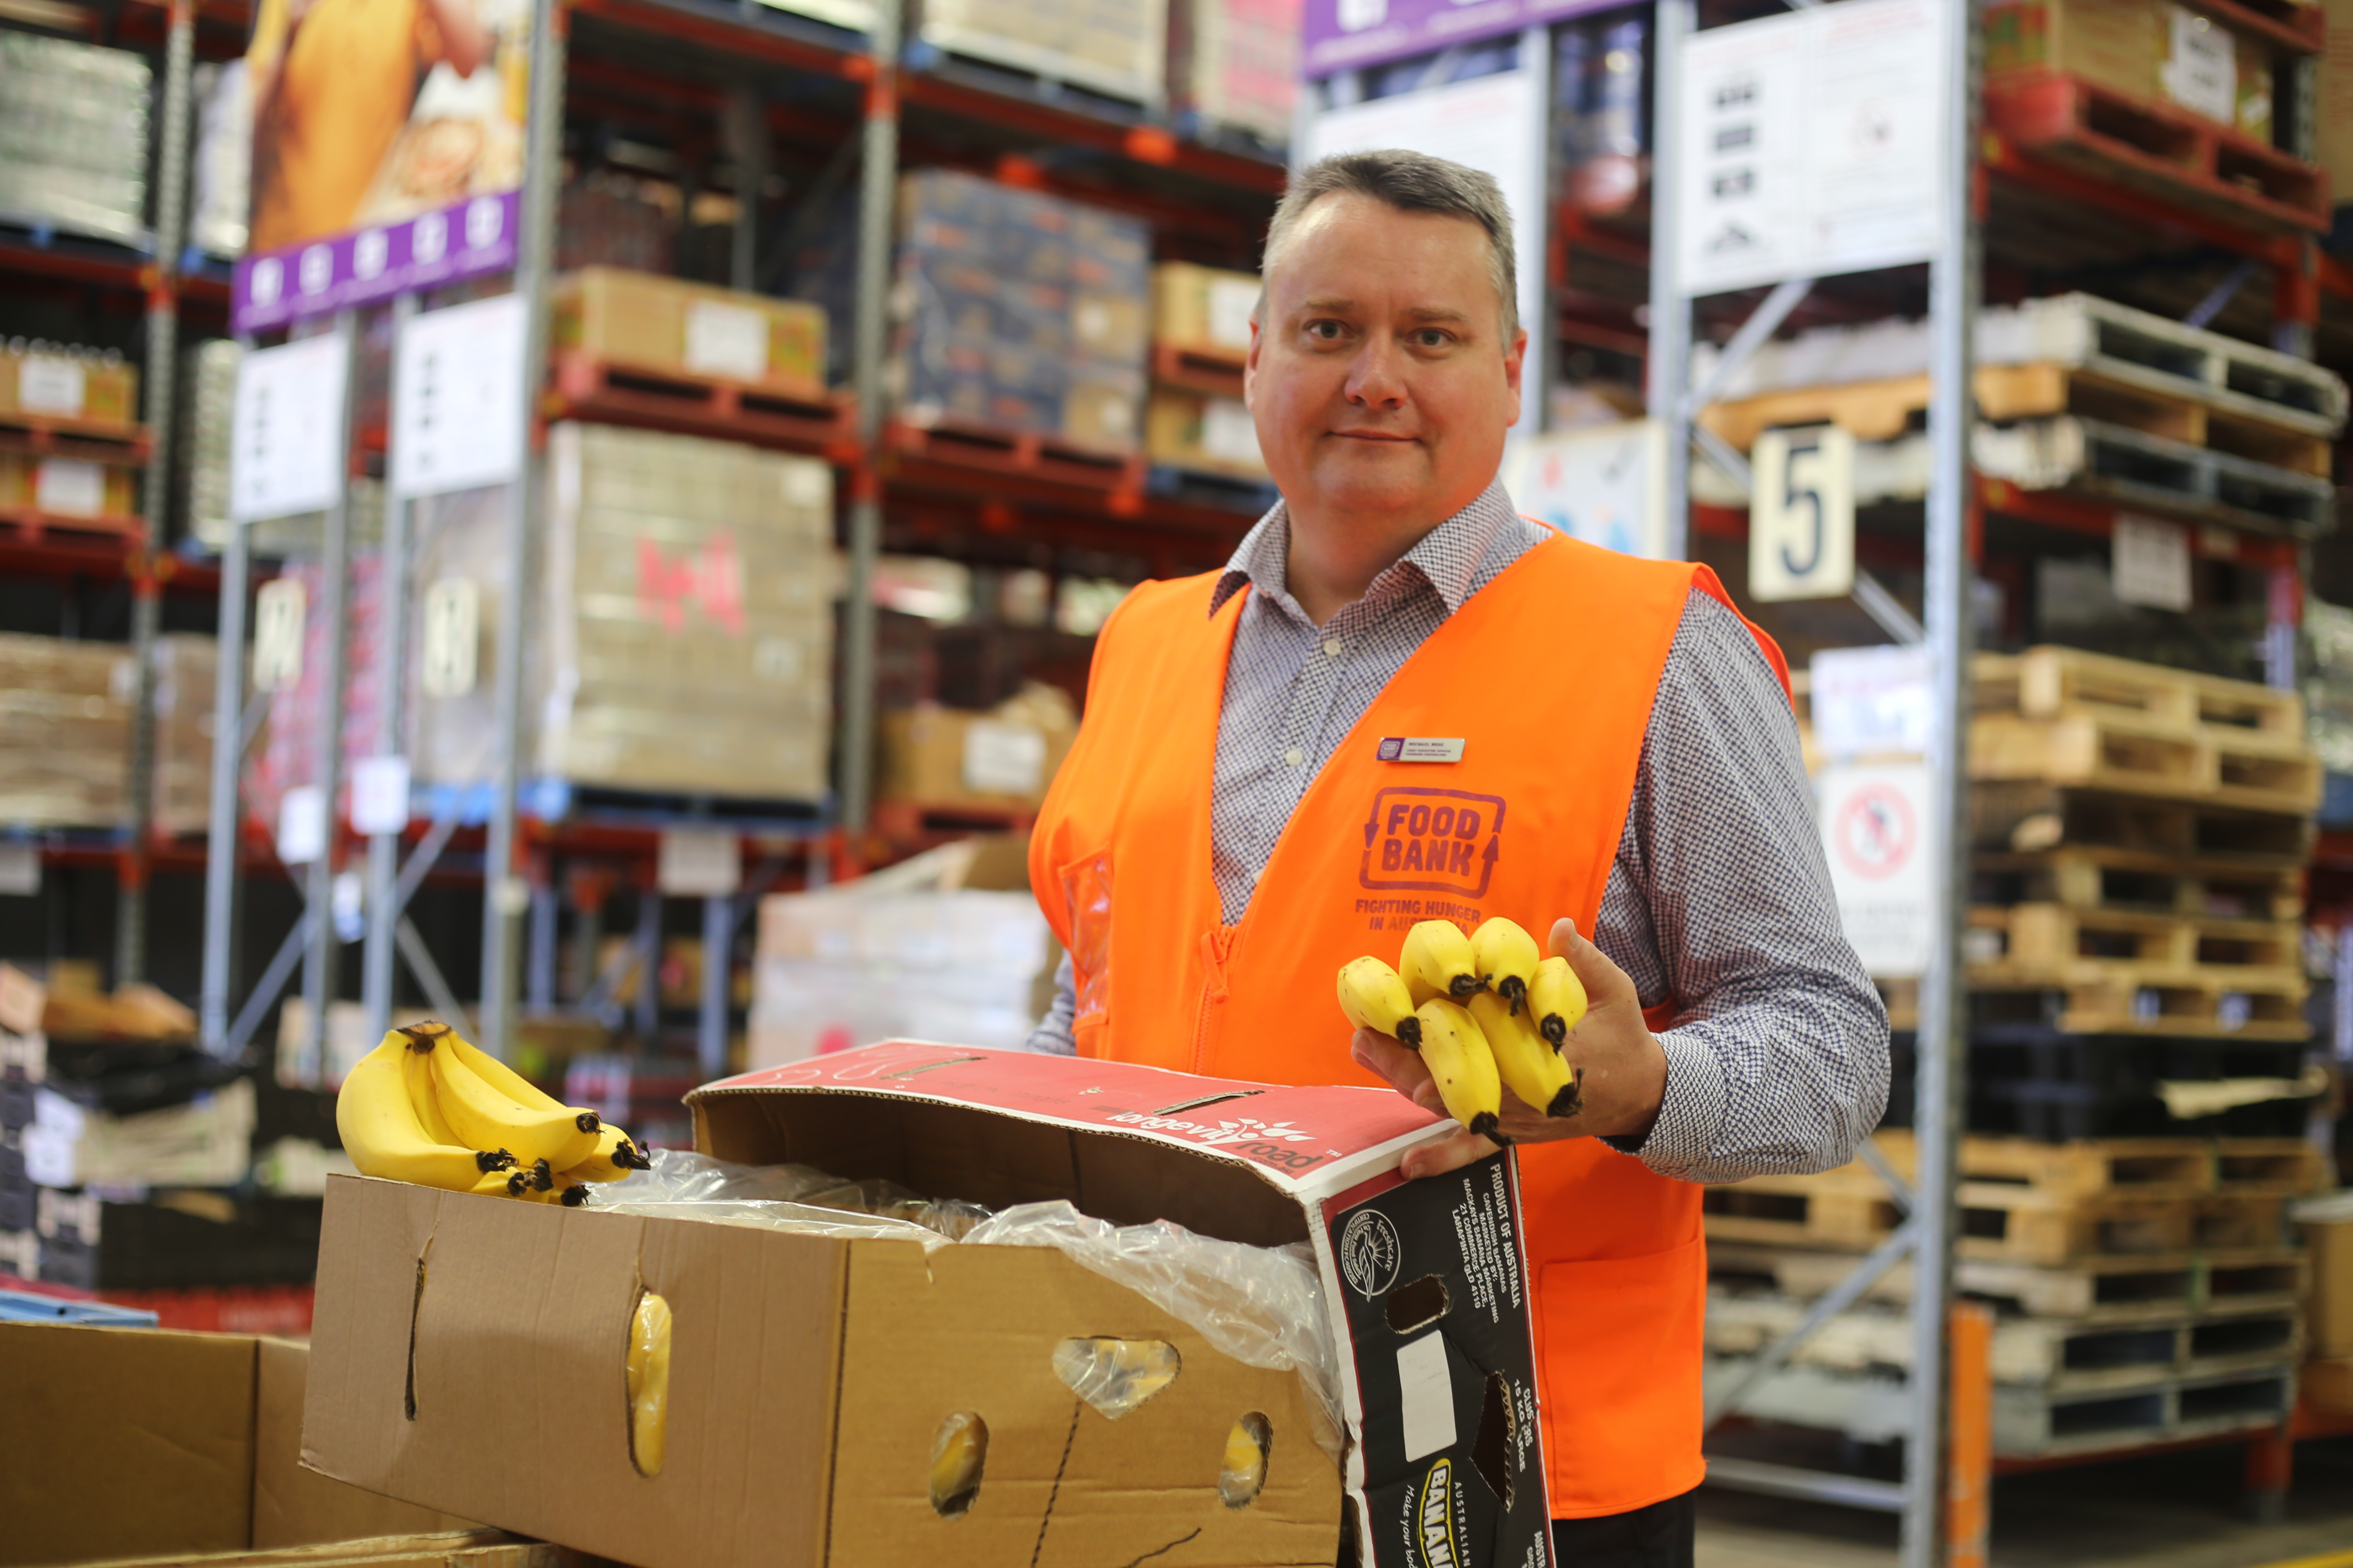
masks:
[[(2304, 1561), (2313, 1559), (2313, 1561)], [(1887, 1568), (1897, 1521), (1699, 1493), (1699, 1568)], [(2287, 1519), (2247, 1521), (2240, 1450), (2085, 1465), (1993, 1486), (1993, 1568), (2353, 1568), (2353, 1439), (2297, 1446)]]

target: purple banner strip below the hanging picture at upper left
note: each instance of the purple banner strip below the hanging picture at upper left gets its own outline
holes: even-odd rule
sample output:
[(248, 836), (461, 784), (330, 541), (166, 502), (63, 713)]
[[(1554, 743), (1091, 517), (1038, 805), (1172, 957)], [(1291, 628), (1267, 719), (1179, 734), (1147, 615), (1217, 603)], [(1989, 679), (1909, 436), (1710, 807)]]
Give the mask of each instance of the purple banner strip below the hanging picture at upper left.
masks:
[(461, 277), (508, 273), (520, 216), (520, 193), (504, 190), (402, 223), (245, 256), (228, 296), (231, 331), (264, 331)]

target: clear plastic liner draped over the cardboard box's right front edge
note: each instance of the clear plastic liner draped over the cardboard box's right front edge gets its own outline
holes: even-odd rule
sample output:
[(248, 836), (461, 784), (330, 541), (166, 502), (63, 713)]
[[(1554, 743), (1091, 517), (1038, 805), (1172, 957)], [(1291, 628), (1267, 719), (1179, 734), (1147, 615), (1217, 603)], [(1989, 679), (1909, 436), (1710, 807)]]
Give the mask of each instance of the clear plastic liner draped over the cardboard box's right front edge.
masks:
[[(1235, 1361), (1299, 1373), (1308, 1392), (1315, 1443), (1339, 1462), (1344, 1432), (1339, 1354), (1308, 1244), (1217, 1241), (1167, 1220), (1111, 1225), (1061, 1201), (1016, 1204), (974, 1225), (965, 1241), (1059, 1248), (1080, 1267), (1127, 1286), (1198, 1331)], [(1078, 1340), (1078, 1345), (1089, 1342)], [(1113, 1373), (1115, 1366), (1106, 1371)], [(1064, 1382), (1071, 1378), (1064, 1375)], [(1111, 1389), (1111, 1396), (1118, 1399), (1118, 1389)]]

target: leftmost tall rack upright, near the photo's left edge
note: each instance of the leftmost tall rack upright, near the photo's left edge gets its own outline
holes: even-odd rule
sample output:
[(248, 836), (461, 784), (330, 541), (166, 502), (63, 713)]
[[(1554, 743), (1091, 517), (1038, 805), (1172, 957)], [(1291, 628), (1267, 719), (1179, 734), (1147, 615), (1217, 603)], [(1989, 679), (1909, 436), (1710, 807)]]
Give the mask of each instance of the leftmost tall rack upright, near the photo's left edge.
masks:
[(155, 160), (155, 280), (148, 284), (146, 416), (148, 461), (139, 489), (146, 520), (132, 571), (129, 842), (115, 903), (115, 985), (146, 980), (148, 870), (155, 839), (155, 635), (162, 623), (162, 562), (172, 527), (172, 414), (179, 395), (179, 249), (188, 219), (188, 96), (195, 54), (195, 0), (172, 0), (165, 38), (160, 158)]

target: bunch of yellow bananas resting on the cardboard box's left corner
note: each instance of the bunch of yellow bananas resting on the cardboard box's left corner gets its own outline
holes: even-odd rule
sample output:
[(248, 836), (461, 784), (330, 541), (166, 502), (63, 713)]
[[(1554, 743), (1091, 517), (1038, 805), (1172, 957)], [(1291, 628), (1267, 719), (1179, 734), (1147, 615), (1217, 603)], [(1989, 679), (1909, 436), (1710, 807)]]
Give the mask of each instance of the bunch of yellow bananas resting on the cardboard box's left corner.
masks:
[(362, 1175), (579, 1206), (652, 1161), (593, 1110), (558, 1105), (445, 1023), (393, 1030), (344, 1079), (334, 1128)]

